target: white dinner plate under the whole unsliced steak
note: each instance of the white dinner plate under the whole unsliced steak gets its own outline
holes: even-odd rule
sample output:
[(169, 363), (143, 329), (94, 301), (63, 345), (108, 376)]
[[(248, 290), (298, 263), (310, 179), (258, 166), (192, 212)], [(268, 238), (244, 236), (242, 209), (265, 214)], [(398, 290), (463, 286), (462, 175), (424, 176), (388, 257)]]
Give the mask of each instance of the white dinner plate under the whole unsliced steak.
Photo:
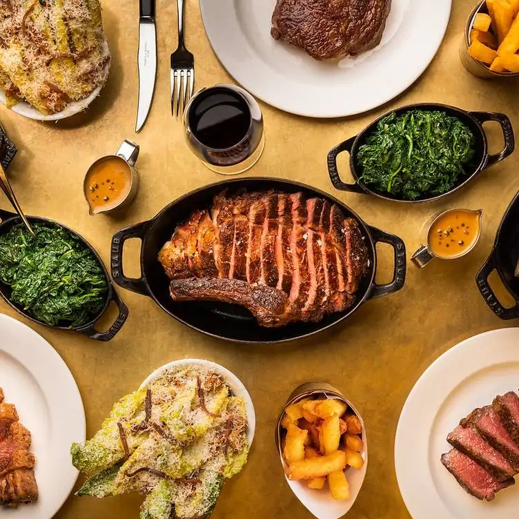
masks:
[(229, 74), (268, 104), (344, 117), (390, 101), (420, 77), (442, 43), (451, 0), (393, 0), (380, 45), (324, 63), (271, 37), (276, 0), (200, 0), (209, 41)]

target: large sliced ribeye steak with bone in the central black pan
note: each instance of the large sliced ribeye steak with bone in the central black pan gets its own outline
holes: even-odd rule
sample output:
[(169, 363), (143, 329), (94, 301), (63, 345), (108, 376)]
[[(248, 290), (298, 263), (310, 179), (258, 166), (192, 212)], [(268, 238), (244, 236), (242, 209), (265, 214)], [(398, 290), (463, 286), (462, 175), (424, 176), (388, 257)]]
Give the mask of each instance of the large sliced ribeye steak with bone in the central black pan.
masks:
[(358, 222), (302, 193), (220, 193), (159, 253), (175, 301), (246, 307), (262, 326), (319, 322), (355, 302), (368, 270)]

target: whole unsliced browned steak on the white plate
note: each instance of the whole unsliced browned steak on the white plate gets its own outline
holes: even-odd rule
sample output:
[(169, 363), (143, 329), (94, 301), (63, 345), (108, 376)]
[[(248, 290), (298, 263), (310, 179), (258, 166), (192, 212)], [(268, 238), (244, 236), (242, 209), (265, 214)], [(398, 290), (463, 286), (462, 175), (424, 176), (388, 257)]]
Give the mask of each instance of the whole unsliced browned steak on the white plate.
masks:
[(314, 59), (340, 59), (380, 43), (391, 0), (277, 0), (271, 35)]

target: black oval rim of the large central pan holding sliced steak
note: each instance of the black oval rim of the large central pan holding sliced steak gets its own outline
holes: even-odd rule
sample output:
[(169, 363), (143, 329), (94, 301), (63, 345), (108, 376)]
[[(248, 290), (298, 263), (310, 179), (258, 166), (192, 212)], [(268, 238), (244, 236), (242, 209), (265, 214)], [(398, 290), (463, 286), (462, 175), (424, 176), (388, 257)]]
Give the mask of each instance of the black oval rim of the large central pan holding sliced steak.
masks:
[[(326, 326), (322, 326), (318, 329), (315, 329), (308, 333), (304, 333), (302, 335), (295, 335), (293, 337), (286, 337), (284, 339), (256, 340), (256, 341), (236, 339), (233, 337), (224, 337), (222, 335), (218, 335), (217, 333), (199, 329), (197, 326), (191, 324), (190, 322), (187, 322), (186, 320), (182, 319), (178, 315), (175, 315), (174, 313), (172, 313), (168, 309), (166, 309), (161, 304), (161, 302), (159, 302), (159, 300), (157, 299), (157, 297), (155, 296), (153, 291), (150, 289), (148, 282), (146, 282), (146, 289), (147, 289), (149, 297), (155, 302), (155, 304), (157, 304), (157, 306), (159, 306), (159, 308), (162, 311), (166, 312), (168, 315), (170, 315), (170, 317), (173, 317), (175, 320), (177, 320), (177, 322), (180, 322), (180, 323), (188, 326), (190, 329), (193, 329), (199, 333), (204, 333), (204, 335), (208, 335), (209, 337), (213, 337), (218, 340), (225, 340), (225, 341), (234, 342), (237, 344), (248, 344), (248, 345), (283, 344), (286, 342), (294, 342), (296, 340), (302, 340), (302, 339), (311, 337), (313, 335), (316, 335), (317, 333), (322, 333), (324, 331), (327, 331), (327, 330), (331, 329), (333, 326), (337, 326), (338, 324), (340, 324), (341, 322), (346, 320), (346, 318), (349, 317), (352, 313), (354, 313), (356, 310), (358, 310), (360, 308), (360, 306), (362, 306), (362, 304), (364, 304), (366, 302), (366, 300), (369, 300), (369, 296), (371, 295), (371, 291), (373, 290), (373, 283), (374, 283), (375, 275), (377, 272), (378, 262), (377, 262), (377, 253), (376, 253), (376, 248), (375, 248), (375, 242), (373, 240), (373, 235), (371, 233), (372, 227), (369, 226), (369, 224), (366, 224), (366, 222), (364, 222), (364, 220), (353, 209), (351, 209), (349, 206), (347, 206), (344, 202), (335, 198), (333, 195), (330, 195), (329, 193), (326, 193), (325, 191), (320, 190), (319, 188), (315, 188), (313, 186), (309, 186), (308, 184), (304, 184), (302, 182), (297, 182), (295, 180), (281, 179), (281, 178), (277, 178), (277, 177), (245, 177), (245, 178), (239, 178), (239, 179), (224, 179), (219, 182), (213, 182), (212, 184), (207, 184), (206, 186), (202, 186), (202, 187), (190, 190), (188, 193), (173, 200), (173, 202), (170, 202), (170, 204), (168, 204), (167, 206), (162, 208), (159, 211), (159, 213), (157, 213), (153, 218), (145, 221), (148, 223), (148, 227), (146, 229), (146, 234), (144, 236), (144, 239), (143, 239), (143, 242), (141, 245), (141, 255), (140, 255), (141, 256), (140, 257), (141, 273), (142, 273), (143, 279), (146, 281), (146, 269), (144, 267), (144, 251), (146, 249), (146, 239), (148, 238), (148, 233), (150, 233), (153, 230), (153, 226), (154, 226), (155, 222), (157, 222), (161, 217), (163, 217), (164, 214), (166, 214), (167, 211), (170, 210), (170, 208), (172, 208), (176, 204), (179, 204), (180, 202), (188, 199), (189, 197), (195, 195), (196, 193), (200, 193), (201, 191), (213, 190), (216, 188), (222, 188), (222, 190), (224, 190), (224, 188), (231, 189), (231, 188), (233, 188), (233, 186), (239, 186), (241, 184), (245, 184), (243, 187), (246, 187), (246, 184), (248, 182), (267, 182), (267, 183), (272, 182), (273, 184), (286, 184), (289, 186), (293, 186), (293, 188), (302, 188), (304, 190), (309, 190), (312, 193), (315, 193), (315, 195), (317, 195), (317, 196), (324, 197), (325, 199), (328, 199), (330, 202), (340, 206), (340, 208), (342, 208), (343, 210), (346, 210), (346, 212), (349, 213), (349, 215), (351, 215), (351, 217), (353, 217), (356, 220), (356, 222), (358, 222), (358, 224), (360, 225), (360, 228), (362, 229), (362, 234), (364, 235), (364, 237), (366, 237), (366, 242), (368, 242), (368, 243), (366, 243), (366, 246), (369, 246), (372, 257), (373, 257), (373, 264), (369, 266), (369, 268), (371, 269), (371, 274), (369, 277), (369, 284), (368, 284), (368, 288), (366, 289), (364, 295), (362, 295), (362, 297), (359, 297), (358, 300), (353, 304), (353, 306), (351, 306), (349, 309), (346, 309), (344, 315), (339, 314), (340, 317), (337, 317), (337, 319), (335, 321), (327, 324)], [(275, 188), (275, 186), (271, 186), (271, 188)], [(157, 251), (157, 254), (158, 254), (158, 251)], [(157, 264), (158, 264), (158, 262), (157, 262)], [(116, 283), (117, 283), (117, 281), (116, 281)]]

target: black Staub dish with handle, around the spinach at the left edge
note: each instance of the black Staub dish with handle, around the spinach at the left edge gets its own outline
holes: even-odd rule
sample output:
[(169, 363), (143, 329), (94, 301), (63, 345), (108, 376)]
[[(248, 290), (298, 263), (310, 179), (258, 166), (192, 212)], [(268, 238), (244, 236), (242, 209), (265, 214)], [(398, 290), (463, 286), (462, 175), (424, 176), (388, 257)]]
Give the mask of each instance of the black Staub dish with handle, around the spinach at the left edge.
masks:
[[(97, 261), (99, 262), (99, 265), (103, 268), (104, 275), (106, 277), (106, 284), (108, 285), (108, 293), (106, 295), (106, 303), (104, 304), (103, 309), (99, 312), (99, 315), (96, 315), (92, 321), (88, 322), (87, 324), (83, 324), (82, 326), (76, 326), (71, 328), (70, 326), (49, 326), (48, 324), (41, 322), (34, 317), (31, 317), (21, 306), (18, 306), (17, 304), (14, 304), (10, 300), (11, 290), (8, 286), (0, 282), (0, 295), (3, 297), (4, 300), (12, 307), (12, 309), (16, 310), (18, 313), (21, 313), (23, 317), (26, 317), (26, 319), (35, 322), (37, 324), (42, 324), (43, 326), (48, 326), (48, 328), (57, 329), (57, 330), (69, 330), (69, 331), (77, 331), (78, 333), (81, 333), (83, 335), (86, 335), (87, 337), (90, 337), (90, 339), (98, 340), (101, 342), (108, 342), (109, 340), (112, 340), (115, 335), (119, 332), (119, 330), (122, 328), (123, 324), (126, 322), (126, 319), (128, 319), (128, 308), (126, 307), (126, 304), (121, 301), (119, 295), (117, 295), (117, 292), (115, 291), (115, 288), (112, 286), (112, 282), (110, 281), (110, 275), (108, 274), (108, 271), (106, 270), (106, 267), (104, 266), (103, 262), (101, 261), (101, 257), (99, 257), (99, 254), (95, 251), (95, 248), (93, 248), (81, 235), (76, 233), (76, 231), (73, 231), (71, 228), (68, 228), (67, 226), (60, 224), (59, 222), (55, 222), (54, 220), (48, 219), (48, 218), (42, 218), (37, 216), (28, 216), (27, 219), (30, 223), (36, 222), (36, 223), (50, 223), (58, 225), (64, 229), (66, 229), (70, 234), (74, 235), (79, 239), (81, 244), (86, 246), (93, 255), (97, 258)], [(0, 233), (6, 233), (12, 226), (21, 224), (21, 219), (18, 215), (14, 213), (10, 213), (9, 211), (0, 209)], [(117, 308), (119, 309), (119, 315), (117, 316), (117, 319), (115, 322), (110, 326), (110, 329), (108, 329), (105, 332), (98, 332), (95, 329), (96, 323), (101, 319), (101, 316), (105, 313), (106, 309), (108, 309), (108, 305), (114, 302), (117, 305)]]

